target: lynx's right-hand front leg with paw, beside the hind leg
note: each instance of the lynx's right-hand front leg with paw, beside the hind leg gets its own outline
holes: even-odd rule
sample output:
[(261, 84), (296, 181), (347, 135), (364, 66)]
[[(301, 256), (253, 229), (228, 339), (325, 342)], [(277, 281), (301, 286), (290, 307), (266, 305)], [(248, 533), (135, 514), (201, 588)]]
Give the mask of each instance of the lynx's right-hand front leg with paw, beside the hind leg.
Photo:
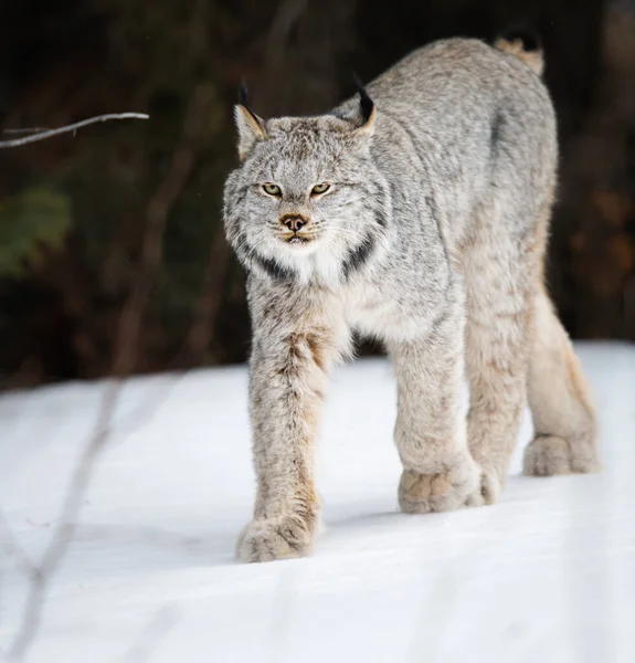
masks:
[(399, 399), (395, 442), (403, 463), (401, 509), (444, 512), (485, 503), (459, 412), (463, 312), (444, 312), (430, 335), (391, 344)]

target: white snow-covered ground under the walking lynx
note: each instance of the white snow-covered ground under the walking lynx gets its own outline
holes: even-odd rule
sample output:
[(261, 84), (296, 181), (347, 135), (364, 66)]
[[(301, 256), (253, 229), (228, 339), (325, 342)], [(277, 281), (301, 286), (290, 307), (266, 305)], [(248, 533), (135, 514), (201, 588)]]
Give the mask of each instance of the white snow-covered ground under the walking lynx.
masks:
[[(340, 369), (319, 446), (325, 532), (313, 557), (265, 565), (233, 561), (254, 491), (245, 370), (131, 381), (28, 660), (633, 663), (635, 347), (579, 350), (605, 471), (521, 477), (519, 448), (499, 504), (440, 515), (398, 513), (389, 364)], [(103, 390), (0, 398), (0, 505), (33, 558)], [(0, 556), (4, 649), (27, 582)]]

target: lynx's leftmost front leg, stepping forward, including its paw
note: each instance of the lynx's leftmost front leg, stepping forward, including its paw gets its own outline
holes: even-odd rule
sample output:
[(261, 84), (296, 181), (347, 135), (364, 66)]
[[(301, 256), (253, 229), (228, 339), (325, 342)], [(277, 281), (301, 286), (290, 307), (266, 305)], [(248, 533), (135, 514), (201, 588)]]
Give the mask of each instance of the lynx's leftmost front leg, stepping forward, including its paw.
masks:
[(237, 544), (242, 561), (310, 550), (319, 515), (313, 445), (336, 351), (326, 328), (254, 338), (250, 397), (257, 495), (254, 519)]

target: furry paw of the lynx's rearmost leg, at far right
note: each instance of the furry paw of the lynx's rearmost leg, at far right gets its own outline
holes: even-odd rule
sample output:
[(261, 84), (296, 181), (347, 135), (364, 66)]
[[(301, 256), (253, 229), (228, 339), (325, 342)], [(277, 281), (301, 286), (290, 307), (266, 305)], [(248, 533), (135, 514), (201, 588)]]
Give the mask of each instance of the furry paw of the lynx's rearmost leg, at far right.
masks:
[(597, 472), (600, 461), (591, 444), (571, 444), (558, 435), (536, 435), (525, 450), (522, 472), (531, 476)]

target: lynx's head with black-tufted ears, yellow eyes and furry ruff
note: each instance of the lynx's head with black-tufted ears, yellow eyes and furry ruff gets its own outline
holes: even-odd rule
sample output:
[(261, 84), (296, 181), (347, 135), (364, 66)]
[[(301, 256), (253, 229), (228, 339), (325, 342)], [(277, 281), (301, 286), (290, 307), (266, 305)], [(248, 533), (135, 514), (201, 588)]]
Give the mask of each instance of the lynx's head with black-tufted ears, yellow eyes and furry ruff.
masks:
[(377, 110), (363, 88), (348, 113), (262, 119), (243, 88), (241, 166), (225, 183), (230, 243), (250, 271), (277, 281), (347, 281), (377, 253), (388, 185), (370, 146)]

